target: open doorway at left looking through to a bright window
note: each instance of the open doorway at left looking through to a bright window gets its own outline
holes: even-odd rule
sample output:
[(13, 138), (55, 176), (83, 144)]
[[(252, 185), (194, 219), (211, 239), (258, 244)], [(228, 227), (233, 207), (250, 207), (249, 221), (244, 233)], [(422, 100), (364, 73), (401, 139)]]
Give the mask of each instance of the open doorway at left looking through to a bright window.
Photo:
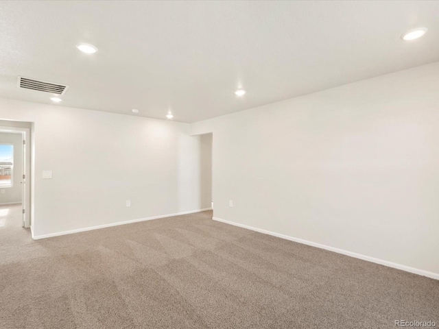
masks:
[(31, 226), (29, 141), (29, 128), (0, 126), (0, 207), (20, 214), (23, 228)]

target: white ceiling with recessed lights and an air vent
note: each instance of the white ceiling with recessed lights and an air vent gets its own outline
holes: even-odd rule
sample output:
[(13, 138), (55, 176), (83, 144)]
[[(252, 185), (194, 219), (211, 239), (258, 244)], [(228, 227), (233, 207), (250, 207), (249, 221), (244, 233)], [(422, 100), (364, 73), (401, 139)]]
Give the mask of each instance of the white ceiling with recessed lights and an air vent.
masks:
[(62, 106), (195, 122), (438, 61), (438, 17), (439, 1), (0, 1), (0, 97), (51, 103), (21, 75), (67, 84)]

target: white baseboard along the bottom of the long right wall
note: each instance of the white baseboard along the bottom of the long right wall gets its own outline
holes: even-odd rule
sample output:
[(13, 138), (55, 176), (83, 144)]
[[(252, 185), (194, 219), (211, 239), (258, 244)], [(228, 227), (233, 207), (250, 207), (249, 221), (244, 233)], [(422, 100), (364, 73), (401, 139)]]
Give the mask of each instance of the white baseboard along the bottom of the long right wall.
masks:
[(329, 247), (329, 245), (322, 245), (320, 243), (315, 243), (315, 242), (311, 242), (311, 241), (307, 241), (307, 240), (303, 240), (303, 239), (298, 239), (298, 238), (294, 238), (293, 236), (287, 236), (284, 234), (279, 234), (276, 232), (270, 232), (267, 230), (262, 230), (261, 228), (253, 228), (252, 226), (247, 226), (244, 224), (239, 224), (239, 223), (235, 223), (233, 221), (226, 221), (225, 219), (220, 219), (217, 217), (212, 217), (212, 219), (214, 221), (221, 221), (222, 223), (226, 223), (226, 224), (230, 224), (233, 226), (238, 226), (239, 228), (246, 228), (248, 230), (252, 230), (252, 231), (256, 231), (259, 233), (263, 233), (263, 234), (269, 234), (272, 236), (277, 236), (278, 238), (281, 239), (286, 239), (289, 241), (294, 241), (294, 242), (298, 242), (298, 243), (303, 243), (304, 245), (311, 245), (312, 247), (318, 247), (321, 249), (326, 249), (329, 250), (330, 252), (337, 252), (338, 254), (344, 254), (346, 256), (351, 256), (354, 258), (359, 258), (362, 260), (367, 260), (368, 262), (372, 262), (372, 263), (377, 263), (380, 265), (385, 265), (388, 267), (393, 267), (394, 269), (401, 269), (403, 271), (407, 271), (410, 273), (415, 273), (418, 274), (420, 276), (427, 276), (427, 278), (432, 278), (432, 279), (436, 279), (439, 280), (439, 273), (434, 273), (434, 272), (430, 272), (430, 271), (425, 271), (423, 269), (416, 269), (414, 267), (410, 267), (410, 266), (406, 266), (406, 265), (401, 265), (401, 264), (397, 264), (397, 263), (392, 263), (389, 262), (388, 260), (382, 260), (379, 258), (375, 258), (375, 257), (370, 257), (370, 256), (366, 256), (366, 255), (362, 255), (362, 254), (357, 254), (356, 252), (348, 252), (347, 250), (344, 249), (339, 249), (339, 248), (335, 248), (335, 247)]

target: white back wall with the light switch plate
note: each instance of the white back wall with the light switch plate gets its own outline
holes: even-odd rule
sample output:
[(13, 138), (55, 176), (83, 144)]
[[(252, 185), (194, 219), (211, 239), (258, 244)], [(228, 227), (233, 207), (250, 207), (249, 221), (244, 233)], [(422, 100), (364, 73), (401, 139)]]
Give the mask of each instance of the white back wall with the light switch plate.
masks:
[(202, 208), (187, 123), (10, 99), (0, 119), (34, 123), (35, 236)]

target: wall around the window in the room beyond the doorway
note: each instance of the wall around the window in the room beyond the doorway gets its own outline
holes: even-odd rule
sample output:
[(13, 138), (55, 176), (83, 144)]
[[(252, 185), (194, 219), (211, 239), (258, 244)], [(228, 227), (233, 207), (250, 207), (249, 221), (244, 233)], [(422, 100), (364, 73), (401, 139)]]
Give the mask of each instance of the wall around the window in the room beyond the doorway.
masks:
[(23, 137), (21, 134), (0, 132), (0, 144), (14, 146), (14, 167), (12, 187), (0, 188), (0, 204), (18, 204), (21, 202), (21, 175), (23, 175)]

